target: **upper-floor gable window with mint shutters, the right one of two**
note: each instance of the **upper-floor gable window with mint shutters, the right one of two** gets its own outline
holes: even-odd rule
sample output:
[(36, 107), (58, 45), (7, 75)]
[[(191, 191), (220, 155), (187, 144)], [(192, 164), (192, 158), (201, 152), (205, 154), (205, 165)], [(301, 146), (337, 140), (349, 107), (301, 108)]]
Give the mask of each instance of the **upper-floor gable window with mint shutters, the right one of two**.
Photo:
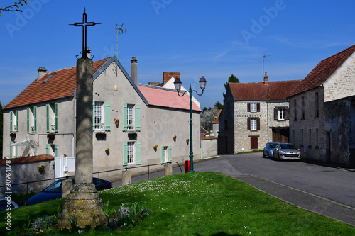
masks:
[(141, 106), (134, 104), (123, 105), (124, 125), (123, 130), (141, 131)]

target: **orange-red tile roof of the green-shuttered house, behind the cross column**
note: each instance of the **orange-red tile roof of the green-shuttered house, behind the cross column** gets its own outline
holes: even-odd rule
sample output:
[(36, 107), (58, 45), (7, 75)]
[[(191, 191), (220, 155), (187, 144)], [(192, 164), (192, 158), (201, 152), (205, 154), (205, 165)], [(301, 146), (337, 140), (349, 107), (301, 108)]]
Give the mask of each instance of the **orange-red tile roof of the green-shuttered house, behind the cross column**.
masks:
[[(93, 72), (97, 72), (108, 60), (109, 58), (105, 58), (94, 62)], [(50, 77), (52, 74), (53, 76)], [(48, 79), (48, 77), (50, 77), (50, 79)], [(45, 79), (48, 79), (48, 81), (45, 82)], [(32, 84), (18, 94), (15, 99), (4, 106), (4, 109), (72, 96), (76, 90), (77, 67), (59, 69), (54, 72), (48, 72), (40, 80), (32, 82)]]

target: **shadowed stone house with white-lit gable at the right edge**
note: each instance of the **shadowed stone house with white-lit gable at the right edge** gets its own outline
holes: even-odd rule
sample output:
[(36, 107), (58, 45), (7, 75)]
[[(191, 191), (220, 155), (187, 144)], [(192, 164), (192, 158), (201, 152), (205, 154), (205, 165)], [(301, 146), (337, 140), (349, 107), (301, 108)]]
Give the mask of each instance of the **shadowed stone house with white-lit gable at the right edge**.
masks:
[(302, 158), (355, 167), (355, 45), (322, 60), (288, 96)]

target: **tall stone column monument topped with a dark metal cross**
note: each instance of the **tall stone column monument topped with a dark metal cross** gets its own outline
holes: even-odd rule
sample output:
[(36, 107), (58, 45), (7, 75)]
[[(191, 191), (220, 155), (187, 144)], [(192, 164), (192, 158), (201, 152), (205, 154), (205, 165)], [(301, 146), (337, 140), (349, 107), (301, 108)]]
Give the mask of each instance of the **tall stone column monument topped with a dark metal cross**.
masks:
[(63, 203), (60, 227), (70, 227), (73, 218), (77, 218), (77, 226), (82, 228), (85, 225), (95, 227), (107, 223), (102, 211), (102, 199), (92, 183), (93, 67), (88, 56), (90, 50), (86, 47), (86, 27), (96, 24), (87, 22), (85, 11), (82, 22), (73, 24), (83, 28), (82, 58), (77, 60), (75, 184)]

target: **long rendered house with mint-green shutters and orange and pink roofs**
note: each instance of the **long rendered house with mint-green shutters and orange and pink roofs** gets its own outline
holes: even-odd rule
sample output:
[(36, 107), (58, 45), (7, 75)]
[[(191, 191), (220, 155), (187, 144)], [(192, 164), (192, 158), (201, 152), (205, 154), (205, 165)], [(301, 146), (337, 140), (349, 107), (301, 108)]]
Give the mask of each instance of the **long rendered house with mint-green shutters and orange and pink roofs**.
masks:
[[(94, 62), (94, 172), (189, 159), (189, 97), (138, 84), (137, 62), (133, 57), (131, 77), (115, 56)], [(4, 157), (74, 156), (75, 101), (76, 67), (40, 67), (38, 78), (4, 106)], [(200, 140), (200, 108), (193, 103), (192, 110), (193, 138)], [(200, 142), (193, 152), (200, 158)]]

